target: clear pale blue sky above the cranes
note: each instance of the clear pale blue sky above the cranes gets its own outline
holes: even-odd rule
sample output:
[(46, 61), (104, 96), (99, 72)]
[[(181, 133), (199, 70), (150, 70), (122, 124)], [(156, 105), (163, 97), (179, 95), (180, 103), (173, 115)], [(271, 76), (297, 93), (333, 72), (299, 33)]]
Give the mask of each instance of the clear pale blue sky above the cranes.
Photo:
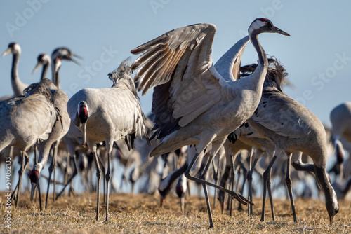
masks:
[[(84, 57), (81, 67), (62, 62), (61, 88), (71, 97), (82, 88), (110, 87), (107, 74), (131, 56), (131, 49), (171, 29), (215, 24), (216, 62), (247, 34), (252, 20), (265, 17), (291, 34), (259, 36), (266, 53), (284, 64), (295, 85), (284, 91), (329, 124), (331, 109), (351, 99), (350, 8), (349, 1), (1, 1), (0, 53), (8, 43), (19, 43), (20, 79), (33, 83), (40, 76), (39, 71), (31, 74), (37, 55), (67, 46)], [(0, 57), (0, 96), (12, 93), (11, 60), (9, 55)], [(247, 46), (242, 64), (256, 60), (256, 51)], [(151, 97), (152, 92), (141, 97), (145, 113), (150, 112)]]

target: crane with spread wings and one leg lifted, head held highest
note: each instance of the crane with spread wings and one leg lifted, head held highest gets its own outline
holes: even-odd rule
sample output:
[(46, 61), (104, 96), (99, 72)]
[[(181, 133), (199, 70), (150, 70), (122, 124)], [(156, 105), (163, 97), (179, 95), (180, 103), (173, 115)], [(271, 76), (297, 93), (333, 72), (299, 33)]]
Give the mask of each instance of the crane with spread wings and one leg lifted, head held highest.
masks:
[[(267, 71), (267, 57), (258, 43), (258, 34), (263, 32), (289, 36), (270, 20), (254, 20), (249, 27), (249, 39), (258, 53), (259, 69), (249, 78), (235, 82), (220, 76), (213, 66), (211, 50), (215, 25), (198, 24), (174, 29), (131, 50), (133, 54), (145, 52), (132, 65), (132, 69), (139, 69), (135, 74), (135, 82), (140, 81), (138, 90), (143, 90), (145, 94), (154, 88), (152, 113), (155, 114), (155, 135), (161, 139), (161, 143), (150, 156), (197, 144), (197, 152), (185, 176), (203, 184), (206, 200), (206, 184), (222, 190), (225, 188), (192, 177), (191, 167), (211, 142), (211, 155), (216, 155), (227, 135), (244, 123), (256, 109)], [(246, 46), (245, 39), (237, 45), (237, 53), (231, 53), (233, 57), (226, 58), (230, 60), (225, 63), (227, 71), (238, 67), (239, 57)], [(232, 61), (236, 63), (234, 66)], [(231, 80), (237, 74), (232, 77)], [(237, 193), (227, 192), (246, 203)], [(210, 227), (213, 227), (211, 210), (207, 207)]]

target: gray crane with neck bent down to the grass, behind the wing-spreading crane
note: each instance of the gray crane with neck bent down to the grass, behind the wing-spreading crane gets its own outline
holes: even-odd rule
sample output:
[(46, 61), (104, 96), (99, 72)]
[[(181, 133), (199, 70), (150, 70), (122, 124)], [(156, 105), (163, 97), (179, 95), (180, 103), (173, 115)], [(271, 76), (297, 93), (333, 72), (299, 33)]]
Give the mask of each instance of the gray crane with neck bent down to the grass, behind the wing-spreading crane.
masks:
[[(249, 123), (261, 135), (272, 139), (276, 144), (276, 156), (274, 158), (281, 154), (288, 157), (286, 185), (291, 199), (294, 221), (297, 221), (297, 219), (291, 191), (290, 162), (291, 153), (301, 151), (313, 160), (314, 165), (305, 165), (305, 168), (313, 170), (311, 168), (314, 166), (313, 171), (326, 196), (326, 209), (329, 219), (333, 222), (333, 217), (338, 212), (339, 207), (336, 193), (331, 187), (326, 173), (327, 150), (324, 126), (305, 106), (282, 92), (280, 85), (286, 73), (282, 70), (282, 65), (278, 61), (274, 62), (273, 65), (277, 69), (274, 69), (274, 67), (268, 69), (260, 104), (249, 119)], [(273, 71), (274, 73), (272, 73)], [(261, 219), (264, 219), (264, 208)]]

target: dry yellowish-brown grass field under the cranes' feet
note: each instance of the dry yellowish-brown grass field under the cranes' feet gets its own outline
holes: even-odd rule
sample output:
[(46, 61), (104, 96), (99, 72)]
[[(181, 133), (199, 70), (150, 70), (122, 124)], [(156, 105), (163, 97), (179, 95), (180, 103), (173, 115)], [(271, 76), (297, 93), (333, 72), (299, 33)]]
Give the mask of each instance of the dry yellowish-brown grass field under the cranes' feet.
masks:
[[(4, 193), (0, 193), (1, 228), (4, 228)], [(298, 223), (293, 223), (289, 201), (275, 201), (277, 219), (272, 221), (270, 206), (266, 221), (260, 221), (262, 202), (254, 200), (253, 217), (234, 210), (220, 214), (213, 209), (215, 228), (208, 230), (204, 198), (186, 198), (185, 214), (180, 212), (178, 198), (169, 196), (159, 207), (158, 196), (112, 194), (110, 221), (105, 221), (105, 206), (100, 208), (100, 221), (95, 221), (96, 195), (78, 194), (76, 198), (50, 200), (48, 209), (39, 211), (39, 202), (31, 203), (29, 194), (21, 195), (19, 208), (11, 208), (11, 229), (1, 233), (351, 233), (351, 202), (340, 200), (340, 212), (330, 225), (323, 200), (296, 200)], [(52, 198), (51, 198), (52, 199)], [(211, 199), (213, 201), (213, 198)]]

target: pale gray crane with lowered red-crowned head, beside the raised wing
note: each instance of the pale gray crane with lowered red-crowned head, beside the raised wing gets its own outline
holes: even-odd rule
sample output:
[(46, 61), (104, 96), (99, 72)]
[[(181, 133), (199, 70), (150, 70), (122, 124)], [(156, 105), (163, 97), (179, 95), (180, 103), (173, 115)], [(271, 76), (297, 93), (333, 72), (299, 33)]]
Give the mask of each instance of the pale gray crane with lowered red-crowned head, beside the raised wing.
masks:
[[(109, 74), (114, 82), (112, 88), (85, 88), (74, 94), (67, 103), (67, 111), (72, 122), (83, 132), (84, 143), (93, 151), (98, 167), (98, 187), (100, 186), (100, 168), (96, 144), (105, 141), (108, 153), (107, 163), (107, 206), (110, 181), (110, 154), (114, 141), (132, 135), (132, 138), (147, 135), (144, 125), (144, 113), (135, 86), (131, 81), (131, 69), (125, 60), (121, 66)], [(78, 107), (78, 109), (77, 109)], [(100, 191), (98, 188), (98, 202)], [(96, 219), (98, 219), (98, 208)]]

